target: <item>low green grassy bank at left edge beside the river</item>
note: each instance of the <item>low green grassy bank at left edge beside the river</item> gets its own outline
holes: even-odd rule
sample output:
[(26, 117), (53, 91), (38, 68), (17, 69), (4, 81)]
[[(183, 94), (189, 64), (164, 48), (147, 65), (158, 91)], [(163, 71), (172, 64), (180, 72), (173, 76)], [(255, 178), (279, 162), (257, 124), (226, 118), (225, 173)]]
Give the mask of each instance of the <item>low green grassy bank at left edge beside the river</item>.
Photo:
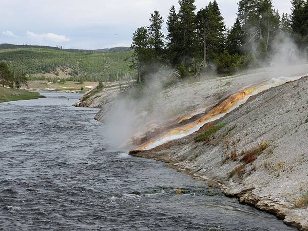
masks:
[(16, 100), (33, 100), (45, 98), (38, 92), (26, 91), (21, 89), (0, 87), (0, 103)]

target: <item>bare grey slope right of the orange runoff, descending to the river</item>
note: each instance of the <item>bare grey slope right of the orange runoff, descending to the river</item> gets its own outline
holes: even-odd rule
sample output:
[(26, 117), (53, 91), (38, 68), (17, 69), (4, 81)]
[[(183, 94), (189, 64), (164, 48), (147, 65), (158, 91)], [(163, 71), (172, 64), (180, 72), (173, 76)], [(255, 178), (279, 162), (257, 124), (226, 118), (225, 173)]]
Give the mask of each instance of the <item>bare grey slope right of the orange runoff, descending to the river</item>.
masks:
[(215, 179), (225, 195), (308, 230), (307, 89), (307, 77), (271, 88), (187, 137), (130, 155)]

